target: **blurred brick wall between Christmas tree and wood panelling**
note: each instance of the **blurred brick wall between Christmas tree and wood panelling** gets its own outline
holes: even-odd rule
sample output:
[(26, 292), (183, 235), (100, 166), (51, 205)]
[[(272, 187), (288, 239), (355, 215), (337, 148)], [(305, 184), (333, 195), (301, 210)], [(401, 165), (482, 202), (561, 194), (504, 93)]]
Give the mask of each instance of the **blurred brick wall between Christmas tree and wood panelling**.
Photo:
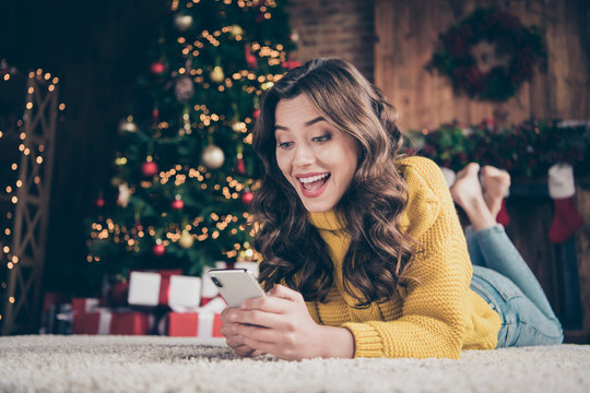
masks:
[(374, 80), (374, 0), (288, 0), (287, 10), (299, 36), (296, 60), (339, 57)]

